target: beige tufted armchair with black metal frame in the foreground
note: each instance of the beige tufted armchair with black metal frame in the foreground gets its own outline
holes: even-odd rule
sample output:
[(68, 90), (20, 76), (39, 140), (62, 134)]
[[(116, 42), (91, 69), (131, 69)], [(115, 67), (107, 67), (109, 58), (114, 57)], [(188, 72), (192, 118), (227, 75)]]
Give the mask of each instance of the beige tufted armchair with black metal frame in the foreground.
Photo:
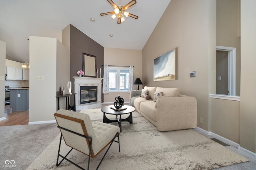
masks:
[[(98, 121), (91, 122), (89, 115), (65, 109), (58, 110), (56, 113), (54, 113), (54, 117), (58, 123), (58, 128), (60, 128), (61, 132), (60, 145), (63, 137), (66, 145), (71, 147), (71, 150), (65, 156), (62, 156), (60, 154), (59, 145), (56, 166), (59, 166), (60, 163), (65, 159), (68, 160), (68, 162), (77, 166), (78, 168), (84, 169), (66, 158), (68, 154), (72, 151), (72, 149), (76, 149), (89, 156), (87, 169), (89, 169), (90, 166), (90, 157), (95, 158), (102, 150), (104, 150), (109, 145), (103, 158), (98, 164), (97, 169), (99, 168), (102, 160), (106, 156), (113, 142), (118, 143), (120, 152), (120, 128), (118, 126)], [(118, 141), (115, 141), (116, 137), (118, 137)], [(58, 163), (59, 156), (62, 157), (60, 163)]]

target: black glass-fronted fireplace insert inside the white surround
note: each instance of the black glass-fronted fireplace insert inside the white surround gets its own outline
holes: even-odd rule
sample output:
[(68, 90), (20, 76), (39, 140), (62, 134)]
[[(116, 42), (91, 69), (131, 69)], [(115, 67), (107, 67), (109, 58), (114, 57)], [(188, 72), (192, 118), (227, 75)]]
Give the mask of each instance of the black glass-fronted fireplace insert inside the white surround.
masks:
[(97, 102), (97, 86), (80, 86), (80, 104)]

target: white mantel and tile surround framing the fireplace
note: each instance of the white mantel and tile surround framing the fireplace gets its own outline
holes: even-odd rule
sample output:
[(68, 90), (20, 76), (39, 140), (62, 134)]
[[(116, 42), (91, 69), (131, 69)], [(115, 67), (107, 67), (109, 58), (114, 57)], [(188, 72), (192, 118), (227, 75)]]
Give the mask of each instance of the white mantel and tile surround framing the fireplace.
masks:
[[(74, 82), (74, 93), (76, 93), (76, 110), (93, 109), (101, 107), (101, 80), (103, 78), (93, 77), (72, 77)], [(91, 102), (87, 104), (80, 104), (80, 86), (98, 86), (97, 102)]]

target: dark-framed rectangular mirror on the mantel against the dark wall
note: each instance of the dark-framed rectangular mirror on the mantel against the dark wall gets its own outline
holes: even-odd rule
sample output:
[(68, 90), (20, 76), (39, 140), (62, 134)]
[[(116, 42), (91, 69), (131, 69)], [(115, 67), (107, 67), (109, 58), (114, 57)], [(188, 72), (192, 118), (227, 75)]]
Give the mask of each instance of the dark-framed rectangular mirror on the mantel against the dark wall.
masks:
[(85, 77), (96, 76), (96, 56), (82, 53), (83, 71)]

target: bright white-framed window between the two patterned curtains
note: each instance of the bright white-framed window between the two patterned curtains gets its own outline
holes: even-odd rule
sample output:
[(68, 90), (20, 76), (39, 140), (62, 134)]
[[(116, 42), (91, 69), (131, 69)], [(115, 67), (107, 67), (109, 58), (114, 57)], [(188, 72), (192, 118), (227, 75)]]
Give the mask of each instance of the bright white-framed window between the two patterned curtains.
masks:
[(128, 92), (129, 68), (109, 67), (109, 91)]

